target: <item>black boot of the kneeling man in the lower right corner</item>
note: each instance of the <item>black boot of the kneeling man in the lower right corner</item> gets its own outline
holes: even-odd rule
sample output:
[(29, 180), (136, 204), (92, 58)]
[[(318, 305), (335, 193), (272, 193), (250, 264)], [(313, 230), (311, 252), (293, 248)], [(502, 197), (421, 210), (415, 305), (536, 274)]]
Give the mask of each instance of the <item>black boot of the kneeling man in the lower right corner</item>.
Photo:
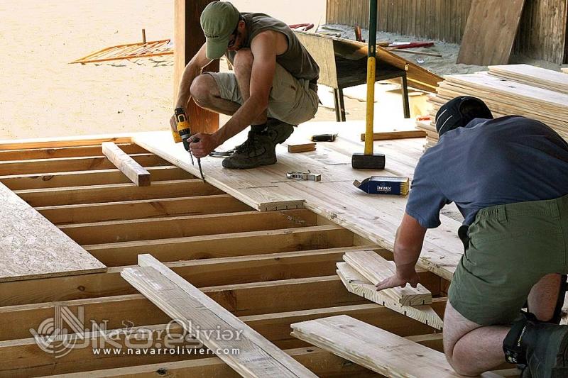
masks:
[(523, 378), (568, 377), (568, 326), (542, 323), (529, 313), (513, 323), (503, 351), (507, 362), (527, 365)]

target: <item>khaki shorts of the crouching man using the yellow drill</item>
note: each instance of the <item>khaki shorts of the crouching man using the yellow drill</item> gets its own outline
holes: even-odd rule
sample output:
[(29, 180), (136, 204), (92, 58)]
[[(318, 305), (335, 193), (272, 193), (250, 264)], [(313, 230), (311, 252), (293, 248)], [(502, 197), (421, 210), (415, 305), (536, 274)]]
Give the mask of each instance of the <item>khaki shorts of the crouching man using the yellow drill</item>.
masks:
[[(221, 98), (243, 104), (239, 84), (233, 72), (206, 72), (217, 83)], [(309, 88), (310, 82), (296, 79), (284, 67), (276, 64), (270, 97), (268, 117), (299, 125), (314, 118), (317, 111), (317, 93)]]

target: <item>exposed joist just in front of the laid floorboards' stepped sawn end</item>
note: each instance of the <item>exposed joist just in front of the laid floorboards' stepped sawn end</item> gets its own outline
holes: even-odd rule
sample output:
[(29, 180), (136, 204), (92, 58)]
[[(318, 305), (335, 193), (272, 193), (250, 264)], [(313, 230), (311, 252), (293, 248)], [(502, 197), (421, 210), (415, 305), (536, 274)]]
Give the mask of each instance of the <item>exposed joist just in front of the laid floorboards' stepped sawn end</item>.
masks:
[(60, 226), (60, 230), (84, 245), (306, 226), (317, 226), (315, 213), (297, 209), (80, 223)]

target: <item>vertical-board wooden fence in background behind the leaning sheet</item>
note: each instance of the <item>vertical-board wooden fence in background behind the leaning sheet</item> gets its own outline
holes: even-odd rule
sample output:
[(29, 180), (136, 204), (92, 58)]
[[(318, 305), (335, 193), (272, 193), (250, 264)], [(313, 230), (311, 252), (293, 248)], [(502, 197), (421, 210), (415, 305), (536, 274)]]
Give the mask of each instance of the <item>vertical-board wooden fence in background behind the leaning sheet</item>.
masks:
[[(506, 0), (504, 0), (506, 1)], [(525, 0), (513, 52), (568, 62), (568, 0)], [(460, 43), (471, 0), (378, 0), (378, 30)], [(327, 0), (327, 23), (368, 27), (368, 0)]]

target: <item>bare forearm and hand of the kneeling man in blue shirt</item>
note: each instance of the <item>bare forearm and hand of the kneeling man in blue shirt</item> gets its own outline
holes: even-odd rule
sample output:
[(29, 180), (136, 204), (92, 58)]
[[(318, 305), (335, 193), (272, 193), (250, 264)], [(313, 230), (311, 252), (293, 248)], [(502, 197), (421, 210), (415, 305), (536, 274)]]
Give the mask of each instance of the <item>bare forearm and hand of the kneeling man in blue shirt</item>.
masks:
[(412, 287), (416, 287), (418, 274), (416, 273), (415, 265), (418, 257), (420, 257), (426, 230), (426, 228), (420, 226), (420, 223), (415, 218), (404, 213), (403, 221), (400, 222), (400, 226), (396, 230), (393, 251), (396, 274), (379, 282), (376, 285), (377, 290), (388, 289), (389, 287), (404, 287), (408, 283)]

